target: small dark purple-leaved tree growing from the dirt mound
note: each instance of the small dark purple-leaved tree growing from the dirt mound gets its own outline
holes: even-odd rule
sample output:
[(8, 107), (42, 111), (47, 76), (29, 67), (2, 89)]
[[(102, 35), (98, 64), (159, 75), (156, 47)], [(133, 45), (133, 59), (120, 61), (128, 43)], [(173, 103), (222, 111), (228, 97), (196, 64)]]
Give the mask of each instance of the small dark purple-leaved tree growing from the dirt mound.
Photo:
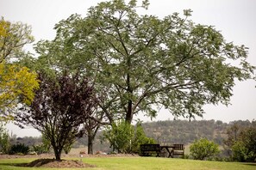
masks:
[(41, 131), (59, 161), (62, 150), (84, 135), (81, 127), (97, 106), (97, 97), (91, 82), (79, 73), (56, 77), (40, 74), (40, 81), (34, 101), (21, 108), (16, 121)]

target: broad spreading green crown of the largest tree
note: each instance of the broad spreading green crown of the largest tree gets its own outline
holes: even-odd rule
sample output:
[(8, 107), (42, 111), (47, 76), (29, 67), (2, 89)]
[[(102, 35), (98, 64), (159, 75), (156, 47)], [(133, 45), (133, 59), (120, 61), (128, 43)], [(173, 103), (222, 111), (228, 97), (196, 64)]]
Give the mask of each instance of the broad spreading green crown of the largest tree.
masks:
[(154, 117), (158, 106), (193, 118), (207, 103), (228, 104), (234, 80), (253, 75), (247, 47), (190, 21), (191, 10), (184, 18), (161, 19), (136, 11), (147, 7), (147, 1), (138, 7), (135, 0), (114, 0), (91, 7), (85, 17), (71, 15), (56, 24), (53, 41), (37, 44), (38, 61), (56, 70), (86, 70), (110, 122), (124, 117), (131, 123), (139, 112)]

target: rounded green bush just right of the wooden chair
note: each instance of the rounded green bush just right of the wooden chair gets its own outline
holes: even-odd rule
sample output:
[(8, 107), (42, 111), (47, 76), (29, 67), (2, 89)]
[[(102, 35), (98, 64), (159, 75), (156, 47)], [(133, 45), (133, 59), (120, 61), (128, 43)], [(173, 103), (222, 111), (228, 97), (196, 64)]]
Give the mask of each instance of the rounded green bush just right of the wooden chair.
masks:
[(218, 145), (206, 138), (196, 140), (190, 145), (190, 155), (195, 160), (204, 160), (205, 158), (217, 155), (218, 153), (220, 153)]

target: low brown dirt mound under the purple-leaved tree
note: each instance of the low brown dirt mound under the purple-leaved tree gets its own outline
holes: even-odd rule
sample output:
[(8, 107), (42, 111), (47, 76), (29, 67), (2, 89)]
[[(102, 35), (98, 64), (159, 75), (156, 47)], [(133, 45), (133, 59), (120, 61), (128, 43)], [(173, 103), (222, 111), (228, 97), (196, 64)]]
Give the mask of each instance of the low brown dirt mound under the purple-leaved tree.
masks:
[(82, 161), (75, 160), (61, 160), (56, 161), (54, 159), (38, 159), (30, 163), (20, 165), (22, 167), (95, 167), (93, 165), (86, 164)]

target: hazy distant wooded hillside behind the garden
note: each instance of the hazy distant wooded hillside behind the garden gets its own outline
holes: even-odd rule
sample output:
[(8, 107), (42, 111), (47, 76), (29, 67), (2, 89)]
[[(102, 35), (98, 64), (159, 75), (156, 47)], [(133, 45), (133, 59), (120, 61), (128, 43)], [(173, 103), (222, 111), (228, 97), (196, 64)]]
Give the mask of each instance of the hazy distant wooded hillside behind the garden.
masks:
[[(250, 121), (235, 121), (230, 123), (223, 123), (220, 120), (193, 120), (191, 122), (187, 120), (166, 120), (143, 123), (142, 127), (147, 137), (153, 137), (160, 144), (171, 143), (193, 143), (196, 139), (206, 137), (209, 140), (223, 144), (223, 139), (226, 137), (227, 129), (232, 124), (239, 124), (240, 126), (248, 126)], [(94, 151), (101, 150), (109, 152), (109, 143), (102, 142), (102, 132), (99, 131), (94, 141)], [(27, 145), (33, 145), (41, 142), (41, 137), (13, 137), (11, 143), (25, 143)], [(73, 147), (86, 147), (87, 138), (82, 137), (74, 143)]]

